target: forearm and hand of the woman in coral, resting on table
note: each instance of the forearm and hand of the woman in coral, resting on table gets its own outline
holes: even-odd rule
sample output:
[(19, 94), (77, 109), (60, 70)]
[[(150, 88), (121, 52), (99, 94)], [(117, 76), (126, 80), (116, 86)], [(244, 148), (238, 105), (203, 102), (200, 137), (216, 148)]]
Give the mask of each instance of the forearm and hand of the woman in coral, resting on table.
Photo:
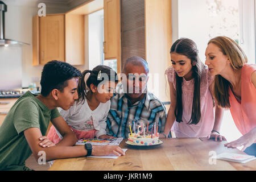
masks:
[(251, 144), (254, 143), (255, 139), (256, 139), (256, 127), (251, 131), (249, 131), (249, 133), (238, 138), (237, 140), (224, 144), (224, 146), (228, 148), (231, 148), (231, 147), (236, 148), (236, 147), (243, 146), (242, 151), (244, 151), (247, 147), (250, 147)]

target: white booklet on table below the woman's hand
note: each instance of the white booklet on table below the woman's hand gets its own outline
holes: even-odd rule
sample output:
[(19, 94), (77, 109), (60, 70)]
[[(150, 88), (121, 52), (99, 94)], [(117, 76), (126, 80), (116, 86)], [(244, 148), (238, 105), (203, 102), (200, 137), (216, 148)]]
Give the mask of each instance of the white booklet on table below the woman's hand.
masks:
[(222, 153), (216, 156), (216, 159), (228, 160), (230, 162), (247, 163), (256, 158), (253, 155)]

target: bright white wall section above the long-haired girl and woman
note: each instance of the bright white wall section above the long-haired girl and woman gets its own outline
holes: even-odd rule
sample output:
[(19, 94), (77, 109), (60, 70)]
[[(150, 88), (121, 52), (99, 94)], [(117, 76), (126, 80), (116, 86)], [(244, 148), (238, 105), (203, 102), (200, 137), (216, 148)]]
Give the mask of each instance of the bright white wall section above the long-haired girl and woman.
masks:
[[(230, 4), (232, 2), (232, 4)], [(220, 7), (218, 7), (220, 6)], [(179, 0), (178, 36), (192, 39), (199, 49), (199, 56), (205, 62), (205, 49), (215, 36), (238, 39), (238, 1), (224, 0), (216, 5), (214, 1)]]

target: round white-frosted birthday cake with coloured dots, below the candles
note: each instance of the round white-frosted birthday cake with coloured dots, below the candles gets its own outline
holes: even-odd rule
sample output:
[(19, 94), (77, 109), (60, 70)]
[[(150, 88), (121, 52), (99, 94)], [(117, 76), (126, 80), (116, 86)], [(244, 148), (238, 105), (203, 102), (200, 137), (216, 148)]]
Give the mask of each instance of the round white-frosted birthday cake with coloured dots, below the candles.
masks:
[(159, 133), (156, 134), (129, 134), (129, 138), (127, 140), (128, 144), (136, 145), (136, 146), (151, 146), (155, 144), (159, 144)]

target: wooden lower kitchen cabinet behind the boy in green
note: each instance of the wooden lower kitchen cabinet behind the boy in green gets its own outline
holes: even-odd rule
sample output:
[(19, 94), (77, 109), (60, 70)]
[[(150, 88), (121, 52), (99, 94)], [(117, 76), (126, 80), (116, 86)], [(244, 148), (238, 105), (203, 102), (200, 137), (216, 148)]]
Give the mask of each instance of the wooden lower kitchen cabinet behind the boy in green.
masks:
[(18, 98), (0, 98), (0, 126), (2, 125), (8, 111), (17, 100)]

